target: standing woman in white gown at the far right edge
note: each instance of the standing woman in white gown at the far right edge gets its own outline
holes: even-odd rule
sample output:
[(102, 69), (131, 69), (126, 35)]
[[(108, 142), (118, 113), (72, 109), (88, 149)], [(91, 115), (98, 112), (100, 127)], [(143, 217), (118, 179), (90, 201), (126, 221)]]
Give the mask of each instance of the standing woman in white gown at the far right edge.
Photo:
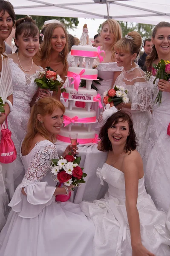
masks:
[[(147, 58), (148, 69), (153, 63), (163, 60), (170, 61), (170, 23), (160, 22), (153, 29), (153, 50)], [(162, 47), (164, 46), (164, 47)], [(144, 169), (147, 192), (151, 195), (158, 209), (168, 211), (170, 208), (170, 136), (167, 127), (170, 123), (170, 82), (156, 81), (151, 76), (150, 86), (153, 87), (153, 102), (161, 90), (161, 106), (153, 104), (150, 126), (144, 143)], [(157, 86), (158, 85), (158, 86)]]

